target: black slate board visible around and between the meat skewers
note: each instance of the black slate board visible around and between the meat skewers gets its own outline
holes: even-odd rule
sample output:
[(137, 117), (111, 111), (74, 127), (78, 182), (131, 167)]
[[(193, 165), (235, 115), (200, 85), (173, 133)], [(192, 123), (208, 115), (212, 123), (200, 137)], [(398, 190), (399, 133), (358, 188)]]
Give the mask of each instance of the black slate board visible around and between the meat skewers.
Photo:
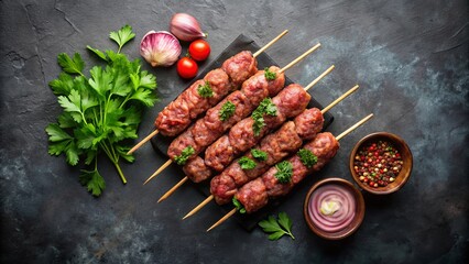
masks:
[[(241, 52), (241, 51), (251, 51), (252, 53), (260, 50), (260, 46), (254, 43), (251, 38), (248, 36), (244, 36), (243, 34), (240, 34), (225, 51), (210, 64), (208, 65), (204, 72), (201, 72), (196, 78), (194, 78), (194, 81), (197, 79), (203, 78), (208, 72), (211, 69), (218, 68), (221, 66), (221, 64), (229, 57), (233, 56), (234, 54)], [(272, 65), (279, 66), (269, 55), (265, 53), (262, 53), (257, 57), (258, 59), (258, 68), (262, 69), (264, 67), (269, 67)], [(312, 76), (313, 77), (313, 76)], [(194, 81), (187, 85), (189, 87)], [(285, 86), (293, 84), (293, 81), (285, 76)], [(323, 109), (323, 106), (316, 101), (314, 98), (312, 98), (310, 102), (308, 103), (308, 108), (318, 108)], [(330, 113), (324, 114), (324, 129), (326, 129), (332, 121), (334, 117)], [(162, 154), (166, 155), (167, 147), (170, 146), (171, 142), (174, 138), (164, 136), (162, 134), (157, 134), (156, 136), (153, 136), (151, 140), (151, 143), (153, 147), (161, 152)], [(177, 166), (177, 165), (174, 165)], [(184, 172), (181, 169), (181, 177), (184, 177)], [(190, 183), (194, 187), (199, 189), (201, 194), (205, 197), (208, 197), (210, 195), (209, 191), (209, 180), (206, 180), (205, 183), (200, 184), (194, 184)], [(276, 208), (283, 200), (285, 199), (277, 199), (277, 200), (271, 200), (269, 201), (269, 205), (264, 207), (263, 209), (251, 213), (251, 215), (241, 215), (236, 213), (232, 218), (237, 219), (237, 221), (248, 231), (251, 231), (253, 228), (255, 228), (257, 223), (261, 221), (262, 219), (266, 218), (266, 215), (271, 212), (274, 208)], [(226, 212), (230, 211), (233, 207), (232, 205), (226, 205), (220, 207), (222, 209), (222, 213), (220, 213), (220, 217), (225, 215)]]

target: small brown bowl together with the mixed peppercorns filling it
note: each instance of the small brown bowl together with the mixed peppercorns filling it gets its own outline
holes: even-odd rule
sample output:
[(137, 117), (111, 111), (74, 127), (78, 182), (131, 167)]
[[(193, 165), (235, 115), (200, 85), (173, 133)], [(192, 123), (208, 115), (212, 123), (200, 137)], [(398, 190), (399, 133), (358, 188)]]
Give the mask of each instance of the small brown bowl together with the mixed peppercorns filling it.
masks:
[(412, 152), (400, 136), (375, 132), (361, 139), (350, 153), (349, 168), (361, 189), (388, 195), (407, 183), (413, 166)]

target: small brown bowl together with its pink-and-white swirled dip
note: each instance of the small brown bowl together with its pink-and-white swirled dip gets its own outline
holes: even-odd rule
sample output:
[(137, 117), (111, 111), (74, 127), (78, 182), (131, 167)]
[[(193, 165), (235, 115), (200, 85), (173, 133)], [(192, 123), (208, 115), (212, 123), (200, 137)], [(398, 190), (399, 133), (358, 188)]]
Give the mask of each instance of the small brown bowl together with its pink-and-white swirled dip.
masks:
[(342, 178), (326, 178), (307, 193), (303, 213), (309, 229), (323, 239), (340, 240), (352, 234), (364, 217), (360, 190)]

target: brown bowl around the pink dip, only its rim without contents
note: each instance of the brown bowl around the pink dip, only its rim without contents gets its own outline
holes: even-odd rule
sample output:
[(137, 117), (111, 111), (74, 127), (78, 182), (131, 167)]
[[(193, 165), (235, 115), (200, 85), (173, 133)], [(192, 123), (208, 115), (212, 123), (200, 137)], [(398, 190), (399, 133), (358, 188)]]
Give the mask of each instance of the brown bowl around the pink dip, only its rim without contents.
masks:
[[(355, 216), (352, 217), (352, 220), (349, 223), (346, 223), (343, 228), (340, 230), (335, 231), (325, 231), (319, 227), (317, 221), (313, 220), (313, 218), (309, 215), (309, 201), (313, 197), (313, 194), (319, 189), (320, 187), (325, 186), (340, 186), (343, 187), (343, 190), (351, 195), (352, 200), (356, 205), (355, 207)], [(342, 179), (342, 178), (326, 178), (318, 183), (316, 183), (308, 191), (305, 198), (305, 204), (303, 207), (303, 213), (306, 220), (306, 223), (308, 224), (309, 229), (319, 235), (323, 239), (327, 240), (340, 240), (349, 237), (352, 234), (361, 224), (364, 217), (364, 200), (363, 196), (361, 195), (360, 190), (355, 187), (350, 182)]]

